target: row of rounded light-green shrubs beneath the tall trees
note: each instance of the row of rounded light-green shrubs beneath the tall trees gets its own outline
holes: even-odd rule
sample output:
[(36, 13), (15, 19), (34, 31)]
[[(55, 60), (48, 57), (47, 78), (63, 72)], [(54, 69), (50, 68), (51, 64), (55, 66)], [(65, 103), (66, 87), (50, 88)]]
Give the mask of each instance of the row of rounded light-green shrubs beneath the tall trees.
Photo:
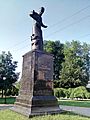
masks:
[(90, 99), (90, 92), (84, 86), (76, 87), (76, 88), (55, 88), (54, 95), (57, 98), (66, 97), (66, 98), (81, 98), (81, 99)]

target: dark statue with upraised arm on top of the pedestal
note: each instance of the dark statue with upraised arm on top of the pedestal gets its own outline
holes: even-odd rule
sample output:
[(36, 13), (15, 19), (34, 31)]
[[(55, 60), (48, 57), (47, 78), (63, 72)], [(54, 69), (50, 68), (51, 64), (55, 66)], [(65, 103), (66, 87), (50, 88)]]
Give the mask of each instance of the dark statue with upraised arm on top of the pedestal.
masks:
[(47, 26), (42, 22), (42, 14), (44, 13), (44, 10), (44, 7), (41, 7), (39, 13), (34, 10), (30, 13), (30, 16), (34, 19), (31, 36), (32, 50), (43, 50), (43, 36), (41, 27), (47, 28)]

